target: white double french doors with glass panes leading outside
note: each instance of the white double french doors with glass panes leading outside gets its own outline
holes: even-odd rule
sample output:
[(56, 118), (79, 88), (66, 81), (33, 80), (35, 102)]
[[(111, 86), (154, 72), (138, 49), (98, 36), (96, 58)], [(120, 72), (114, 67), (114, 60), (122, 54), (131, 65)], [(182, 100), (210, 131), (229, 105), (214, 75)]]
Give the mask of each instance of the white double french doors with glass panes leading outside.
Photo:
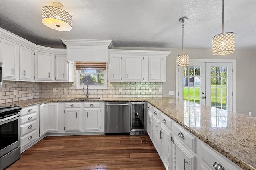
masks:
[(227, 111), (233, 108), (233, 63), (191, 62), (178, 68), (178, 98)]

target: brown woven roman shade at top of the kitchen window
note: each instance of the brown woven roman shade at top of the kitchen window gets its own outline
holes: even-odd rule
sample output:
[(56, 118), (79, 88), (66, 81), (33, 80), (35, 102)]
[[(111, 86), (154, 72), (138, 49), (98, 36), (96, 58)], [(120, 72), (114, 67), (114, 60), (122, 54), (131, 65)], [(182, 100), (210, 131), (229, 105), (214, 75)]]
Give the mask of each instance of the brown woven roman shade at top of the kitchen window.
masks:
[(106, 62), (76, 61), (76, 70), (106, 70)]

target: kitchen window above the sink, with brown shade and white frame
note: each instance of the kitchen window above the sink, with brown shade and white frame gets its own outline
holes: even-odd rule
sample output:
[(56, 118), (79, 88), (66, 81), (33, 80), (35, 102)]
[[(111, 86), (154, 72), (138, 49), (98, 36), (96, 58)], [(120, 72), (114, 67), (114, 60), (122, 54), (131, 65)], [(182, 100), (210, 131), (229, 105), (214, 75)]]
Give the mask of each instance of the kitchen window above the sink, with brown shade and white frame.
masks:
[(76, 62), (76, 89), (107, 89), (105, 62)]

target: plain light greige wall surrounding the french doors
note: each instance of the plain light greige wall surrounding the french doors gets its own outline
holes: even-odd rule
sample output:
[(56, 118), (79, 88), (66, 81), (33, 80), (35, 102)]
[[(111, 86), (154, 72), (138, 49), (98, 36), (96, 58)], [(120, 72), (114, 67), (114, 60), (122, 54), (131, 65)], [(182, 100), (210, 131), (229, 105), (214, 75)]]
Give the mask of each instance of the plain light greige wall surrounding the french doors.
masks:
[[(166, 49), (167, 50), (167, 49)], [(182, 53), (179, 48), (168, 49), (167, 82), (163, 83), (163, 96), (176, 91), (176, 58)], [(236, 60), (236, 112), (256, 117), (256, 50), (239, 50), (229, 55), (212, 55), (212, 49), (184, 49), (190, 59), (235, 59)]]

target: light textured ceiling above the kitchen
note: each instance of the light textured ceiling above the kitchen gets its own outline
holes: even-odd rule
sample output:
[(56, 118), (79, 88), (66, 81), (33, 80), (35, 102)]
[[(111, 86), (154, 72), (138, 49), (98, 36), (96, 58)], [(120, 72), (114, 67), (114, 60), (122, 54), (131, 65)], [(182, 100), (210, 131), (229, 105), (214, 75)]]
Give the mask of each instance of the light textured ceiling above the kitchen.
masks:
[[(222, 0), (59, 0), (72, 15), (71, 31), (41, 22), (49, 0), (0, 0), (0, 27), (35, 44), (65, 48), (63, 39), (111, 39), (114, 47), (212, 48), (222, 32)], [(256, 49), (256, 1), (225, 0), (224, 32), (235, 33), (236, 49)]]

